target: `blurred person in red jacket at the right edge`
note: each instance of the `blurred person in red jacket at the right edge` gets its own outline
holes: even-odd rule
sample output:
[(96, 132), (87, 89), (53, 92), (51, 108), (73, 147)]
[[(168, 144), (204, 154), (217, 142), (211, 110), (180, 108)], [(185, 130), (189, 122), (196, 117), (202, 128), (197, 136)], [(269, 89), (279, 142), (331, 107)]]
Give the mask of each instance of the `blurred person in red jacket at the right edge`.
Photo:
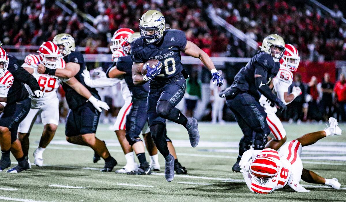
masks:
[(336, 82), (334, 91), (337, 98), (337, 106), (339, 112), (337, 118), (339, 118), (341, 114), (340, 120), (346, 121), (346, 82), (344, 74), (340, 74), (339, 81)]

